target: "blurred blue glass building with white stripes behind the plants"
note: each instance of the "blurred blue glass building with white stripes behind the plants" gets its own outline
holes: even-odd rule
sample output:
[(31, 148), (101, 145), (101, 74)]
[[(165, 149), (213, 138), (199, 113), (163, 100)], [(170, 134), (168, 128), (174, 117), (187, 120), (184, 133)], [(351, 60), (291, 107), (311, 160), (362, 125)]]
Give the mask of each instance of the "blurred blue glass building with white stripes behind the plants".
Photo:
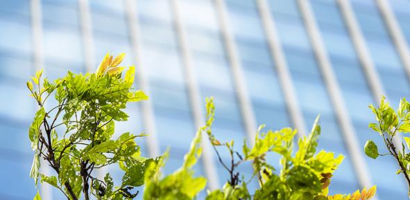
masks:
[[(376, 184), (379, 199), (407, 198), (394, 160), (362, 149), (370, 139), (384, 146), (368, 104), (409, 97), (408, 0), (3, 0), (0, 27), (0, 199), (35, 194), (27, 130), (36, 106), (25, 81), (40, 68), (51, 79), (94, 72), (108, 51), (127, 53), (150, 97), (130, 103), (116, 134), (149, 134), (137, 140), (145, 156), (171, 147), (165, 173), (181, 165), (213, 95), (220, 140), (241, 149), (259, 124), (303, 135), (320, 113), (320, 148), (346, 157), (332, 193)], [(228, 174), (205, 147), (195, 170), (213, 189)], [(268, 159), (279, 167), (277, 158)], [(42, 196), (63, 198), (47, 187)]]

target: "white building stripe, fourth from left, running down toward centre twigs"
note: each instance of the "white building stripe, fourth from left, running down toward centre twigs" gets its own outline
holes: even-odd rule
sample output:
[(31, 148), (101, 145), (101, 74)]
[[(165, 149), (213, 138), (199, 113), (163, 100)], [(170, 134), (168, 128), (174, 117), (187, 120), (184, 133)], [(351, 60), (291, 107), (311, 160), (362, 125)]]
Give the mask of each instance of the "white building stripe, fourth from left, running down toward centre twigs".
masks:
[[(198, 84), (195, 80), (194, 65), (192, 65), (192, 57), (188, 48), (187, 35), (183, 28), (181, 16), (179, 15), (178, 0), (171, 0), (171, 10), (174, 14), (174, 25), (177, 31), (177, 38), (179, 42), (179, 49), (181, 51), (181, 60), (183, 62), (183, 68), (185, 70), (188, 93), (192, 113), (194, 115), (195, 127), (199, 128), (204, 123), (204, 113), (202, 113), (201, 96), (199, 94)], [(202, 144), (204, 151), (202, 152), (202, 163), (206, 177), (208, 177), (208, 186), (210, 190), (217, 190), (219, 188), (218, 174), (215, 167), (211, 151), (211, 143), (208, 142), (208, 135), (202, 134)]]

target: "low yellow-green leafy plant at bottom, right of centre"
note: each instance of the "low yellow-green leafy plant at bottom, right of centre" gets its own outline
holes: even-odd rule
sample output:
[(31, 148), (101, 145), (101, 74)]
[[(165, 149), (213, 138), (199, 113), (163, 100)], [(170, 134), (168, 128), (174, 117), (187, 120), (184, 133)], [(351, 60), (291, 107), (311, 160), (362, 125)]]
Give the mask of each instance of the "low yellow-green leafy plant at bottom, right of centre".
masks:
[[(207, 122), (211, 124), (214, 118), (213, 98), (206, 99)], [(320, 135), (319, 117), (315, 119), (311, 133), (297, 142), (297, 151), (293, 153), (296, 130), (292, 128), (282, 128), (280, 131), (262, 132), (263, 126), (259, 126), (254, 141), (254, 147), (247, 147), (246, 140), (243, 143), (242, 154), (233, 150), (233, 141), (220, 142), (211, 133), (211, 126), (208, 125), (206, 133), (213, 144), (215, 153), (220, 160), (220, 164), (230, 174), (230, 179), (224, 184), (222, 190), (208, 192), (208, 200), (222, 199), (370, 199), (374, 196), (376, 187), (370, 190), (359, 190), (353, 194), (328, 195), (329, 184), (334, 170), (343, 161), (343, 156), (334, 156), (333, 152), (320, 151), (316, 153), (318, 147), (318, 137)], [(216, 147), (226, 147), (231, 156), (231, 165), (228, 167), (220, 158), (220, 153)], [(266, 153), (279, 153), (281, 156), (281, 169), (274, 169), (272, 165), (266, 163)], [(236, 161), (235, 158), (237, 158)], [(250, 194), (247, 184), (250, 180), (245, 180), (242, 176), (239, 179), (239, 172), (236, 172), (238, 165), (244, 162), (252, 162), (254, 169), (253, 176), (259, 181), (260, 188)], [(275, 173), (276, 172), (276, 173)], [(360, 194), (360, 195), (359, 195)]]

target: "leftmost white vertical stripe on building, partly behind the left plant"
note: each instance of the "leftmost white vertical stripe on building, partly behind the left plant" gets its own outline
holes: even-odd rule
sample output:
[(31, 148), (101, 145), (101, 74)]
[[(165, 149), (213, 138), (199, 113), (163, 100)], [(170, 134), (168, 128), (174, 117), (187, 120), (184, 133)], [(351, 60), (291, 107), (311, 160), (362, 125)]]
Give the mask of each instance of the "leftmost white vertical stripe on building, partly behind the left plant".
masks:
[[(37, 71), (44, 67), (42, 54), (42, 7), (40, 0), (31, 0), (31, 28), (33, 31), (31, 38), (31, 41), (33, 42), (32, 58), (34, 69)], [(42, 159), (40, 162), (42, 165), (40, 172), (42, 174), (51, 174), (47, 162)], [(40, 192), (42, 199), (53, 199), (53, 190), (51, 185), (47, 183), (40, 184)]]

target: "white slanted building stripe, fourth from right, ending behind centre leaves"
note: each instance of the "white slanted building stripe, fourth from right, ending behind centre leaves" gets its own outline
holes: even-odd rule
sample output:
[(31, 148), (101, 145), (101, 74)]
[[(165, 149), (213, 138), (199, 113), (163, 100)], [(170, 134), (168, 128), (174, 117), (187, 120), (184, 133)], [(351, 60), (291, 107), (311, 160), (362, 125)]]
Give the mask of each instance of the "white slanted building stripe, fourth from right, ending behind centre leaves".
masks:
[(288, 71), (288, 64), (286, 63), (284, 51), (279, 42), (279, 35), (277, 34), (277, 29), (274, 25), (273, 16), (270, 13), (268, 3), (265, 0), (258, 0), (256, 2), (261, 15), (265, 35), (268, 40), (268, 45), (270, 47), (270, 55), (276, 62), (275, 66), (277, 67), (279, 83), (285, 97), (286, 107), (288, 108), (288, 113), (293, 126), (297, 128), (297, 133), (301, 137), (306, 135), (306, 126), (304, 124), (302, 110), (300, 110), (299, 101), (297, 101), (292, 78)]

